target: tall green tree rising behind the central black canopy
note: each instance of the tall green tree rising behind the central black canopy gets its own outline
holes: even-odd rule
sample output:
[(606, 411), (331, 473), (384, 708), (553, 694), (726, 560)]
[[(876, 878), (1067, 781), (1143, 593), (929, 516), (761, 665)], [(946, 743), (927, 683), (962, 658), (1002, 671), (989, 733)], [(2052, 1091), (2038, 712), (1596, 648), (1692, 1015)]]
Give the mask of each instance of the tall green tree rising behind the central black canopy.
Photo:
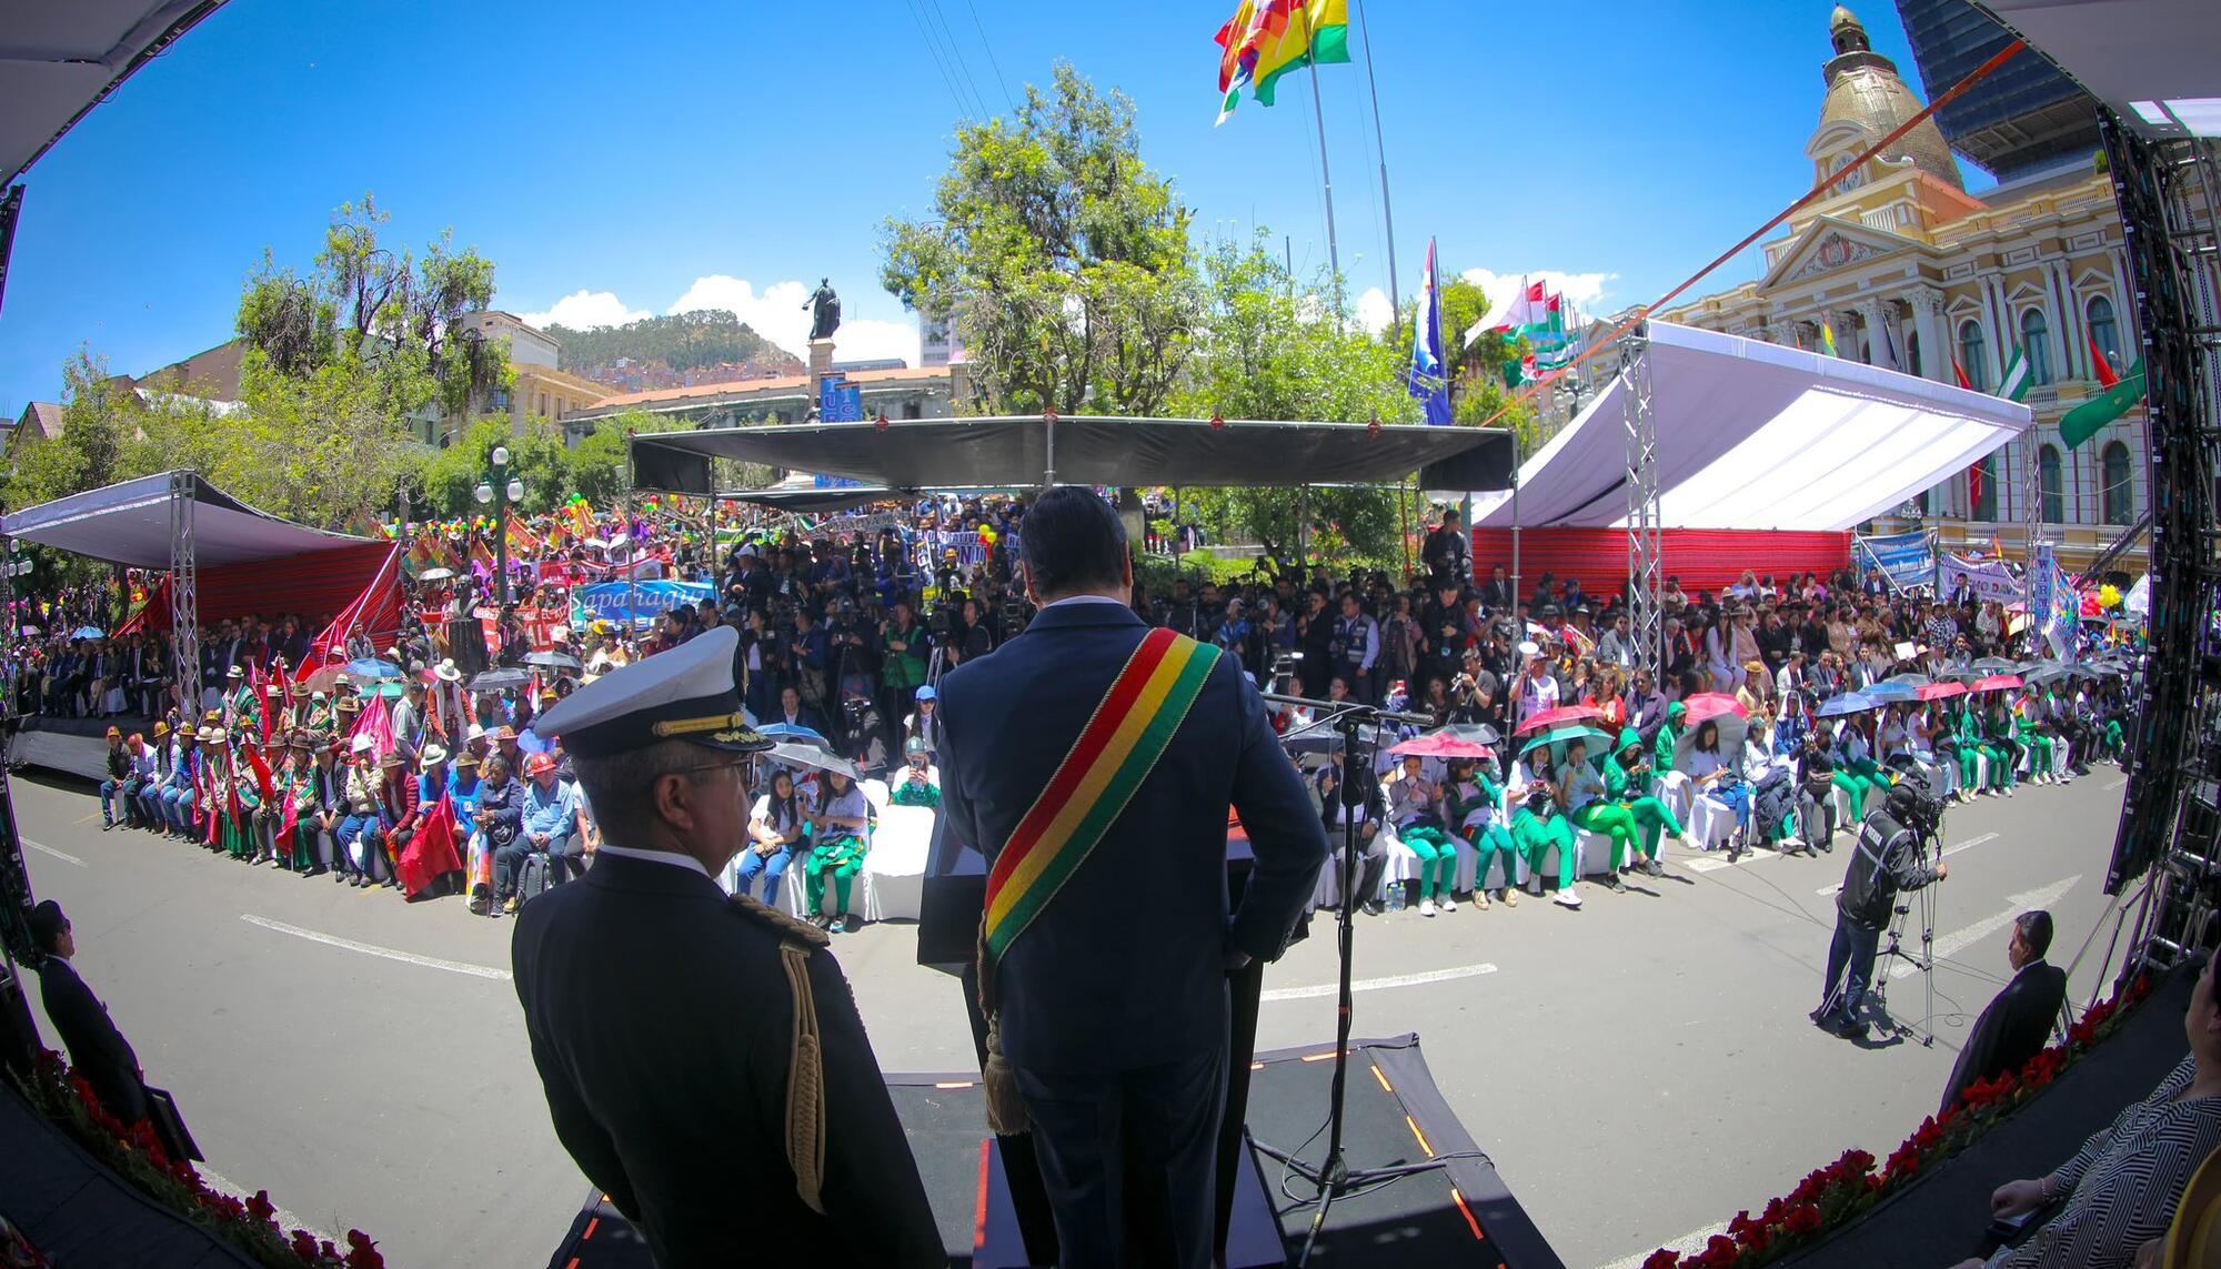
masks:
[(1202, 317), (1190, 213), (1133, 102), (1057, 64), (1015, 118), (957, 129), (931, 220), (888, 220), (880, 284), (948, 317), (991, 410), (1153, 415)]

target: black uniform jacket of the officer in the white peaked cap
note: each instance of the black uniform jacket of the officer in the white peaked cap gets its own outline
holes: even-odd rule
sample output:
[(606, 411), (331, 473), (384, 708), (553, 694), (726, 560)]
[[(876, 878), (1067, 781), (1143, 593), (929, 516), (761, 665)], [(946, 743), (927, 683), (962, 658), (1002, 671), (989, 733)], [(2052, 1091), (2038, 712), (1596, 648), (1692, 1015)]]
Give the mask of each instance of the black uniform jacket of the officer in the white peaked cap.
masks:
[(786, 1158), (788, 938), (691, 867), (604, 854), (517, 916), (511, 963), (555, 1136), (660, 1269), (946, 1265), (833, 954), (808, 956), (824, 1049), (824, 1216)]

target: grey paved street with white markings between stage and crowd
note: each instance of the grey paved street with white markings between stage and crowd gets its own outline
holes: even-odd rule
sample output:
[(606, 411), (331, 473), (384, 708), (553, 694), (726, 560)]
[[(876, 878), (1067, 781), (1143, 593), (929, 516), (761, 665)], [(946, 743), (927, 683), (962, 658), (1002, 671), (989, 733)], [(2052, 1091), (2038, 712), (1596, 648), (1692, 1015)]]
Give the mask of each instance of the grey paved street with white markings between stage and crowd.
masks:
[[(2052, 961), (2068, 963), (2106, 910), (2121, 783), (2099, 770), (1950, 812), (1934, 1047), (1861, 1049), (1806, 1023), (1848, 836), (1817, 861), (1677, 859), (1626, 896), (1584, 885), (1581, 912), (1366, 918), (1357, 1034), (1419, 1032), (1450, 1105), (1568, 1265), (1639, 1262), (1843, 1147), (1883, 1154), (1932, 1114), (2003, 981), (2010, 916), (2050, 907)], [(269, 1187), (300, 1222), (366, 1229), (393, 1265), (546, 1262), (584, 1182), (531, 1072), (506, 921), (102, 834), (78, 785), (13, 788), (38, 894), (69, 910), (80, 969), (215, 1174)], [(2077, 1005), (2110, 932), (2074, 972)], [(966, 1063), (957, 985), (911, 963), (911, 927), (835, 947), (882, 1065)], [(1330, 1038), (1333, 978), (1321, 921), (1268, 972), (1259, 1045)], [(1917, 1016), (1919, 976), (1895, 981), (1890, 1005)]]

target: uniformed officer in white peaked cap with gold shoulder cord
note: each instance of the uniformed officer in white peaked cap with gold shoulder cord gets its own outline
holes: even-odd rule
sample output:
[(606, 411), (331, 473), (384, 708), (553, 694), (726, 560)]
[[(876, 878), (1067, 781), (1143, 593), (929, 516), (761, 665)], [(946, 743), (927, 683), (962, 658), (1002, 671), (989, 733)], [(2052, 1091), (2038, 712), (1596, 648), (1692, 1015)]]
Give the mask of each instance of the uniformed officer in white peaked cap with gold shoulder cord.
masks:
[(713, 881), (768, 748), (735, 643), (720, 626), (540, 717), (606, 834), (511, 943), (555, 1136), (662, 1269), (946, 1265), (826, 936)]

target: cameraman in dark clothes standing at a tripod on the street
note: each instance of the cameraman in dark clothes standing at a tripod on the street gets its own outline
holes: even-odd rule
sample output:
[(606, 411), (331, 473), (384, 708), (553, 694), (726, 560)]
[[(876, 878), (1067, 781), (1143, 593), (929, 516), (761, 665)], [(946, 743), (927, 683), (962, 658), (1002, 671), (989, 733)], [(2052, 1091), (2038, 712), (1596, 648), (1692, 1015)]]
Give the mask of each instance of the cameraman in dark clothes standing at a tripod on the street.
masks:
[[(1859, 845), (1850, 852), (1843, 892), (1835, 896), (1835, 943), (1828, 945), (1828, 981), (1812, 1023), (1846, 1040), (1863, 1040), (1859, 1005), (1875, 974), (1875, 945), (1890, 923), (1897, 894), (1921, 890), (1950, 876), (1941, 859), (1928, 867), (1921, 850), (1937, 832), (1937, 805), (1910, 785), (1890, 790), (1888, 803), (1866, 816)], [(1846, 978), (1846, 967), (1850, 976)]]

